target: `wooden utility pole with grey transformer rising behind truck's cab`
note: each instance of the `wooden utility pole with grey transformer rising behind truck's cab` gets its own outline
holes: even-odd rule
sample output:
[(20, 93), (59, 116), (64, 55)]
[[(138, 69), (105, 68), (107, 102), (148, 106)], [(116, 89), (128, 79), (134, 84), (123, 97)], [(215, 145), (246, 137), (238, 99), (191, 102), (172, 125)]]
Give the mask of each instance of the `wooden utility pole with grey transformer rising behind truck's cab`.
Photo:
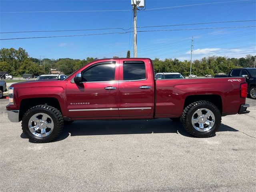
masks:
[[(133, 57), (137, 57), (137, 10), (143, 8), (146, 0), (131, 0), (133, 10)], [(140, 10), (140, 9), (139, 9)]]

